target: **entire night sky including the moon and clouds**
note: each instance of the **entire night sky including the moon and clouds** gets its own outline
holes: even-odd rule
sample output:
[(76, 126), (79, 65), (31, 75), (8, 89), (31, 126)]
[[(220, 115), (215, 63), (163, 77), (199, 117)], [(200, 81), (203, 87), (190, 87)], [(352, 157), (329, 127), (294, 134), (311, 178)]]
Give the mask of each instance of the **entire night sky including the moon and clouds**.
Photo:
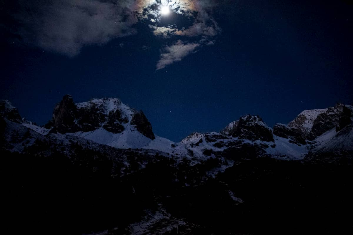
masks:
[(119, 97), (173, 141), (248, 113), (273, 126), (353, 103), (349, 1), (5, 0), (0, 11), (0, 98), (41, 125), (65, 94)]

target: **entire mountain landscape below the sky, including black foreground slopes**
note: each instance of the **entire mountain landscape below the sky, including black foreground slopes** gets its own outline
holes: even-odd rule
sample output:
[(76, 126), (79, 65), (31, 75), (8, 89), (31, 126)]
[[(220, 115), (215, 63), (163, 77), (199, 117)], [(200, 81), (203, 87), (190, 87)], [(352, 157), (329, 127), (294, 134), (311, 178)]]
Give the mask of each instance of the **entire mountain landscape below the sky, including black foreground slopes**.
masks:
[[(341, 205), (349, 205), (353, 106), (303, 111), (273, 128), (245, 115), (220, 133), (193, 132), (175, 143), (154, 135), (142, 111), (115, 98), (75, 104), (65, 95), (44, 126), (0, 100), (0, 151), (10, 192), (6, 201), (12, 202), (7, 213), (24, 211), (21, 203), (28, 200), (23, 205), (43, 211), (30, 224), (44, 221), (42, 227), (61, 229), (60, 234), (191, 235), (209, 234), (208, 224), (221, 221), (212, 233), (234, 234), (233, 222), (244, 215), (238, 226), (250, 221), (253, 227), (253, 215), (263, 221), (277, 208), (267, 223), (279, 216), (277, 221), (288, 201), (298, 202), (292, 207), (301, 216), (313, 203), (322, 208), (332, 198), (323, 217), (336, 216), (342, 195), (347, 198)], [(343, 185), (339, 193), (337, 184)], [(325, 196), (319, 202), (318, 189)], [(64, 220), (47, 216), (48, 205), (51, 215), (67, 213)], [(285, 220), (288, 216), (291, 211)], [(77, 217), (85, 223), (77, 224)], [(41, 230), (47, 234), (46, 227)]]

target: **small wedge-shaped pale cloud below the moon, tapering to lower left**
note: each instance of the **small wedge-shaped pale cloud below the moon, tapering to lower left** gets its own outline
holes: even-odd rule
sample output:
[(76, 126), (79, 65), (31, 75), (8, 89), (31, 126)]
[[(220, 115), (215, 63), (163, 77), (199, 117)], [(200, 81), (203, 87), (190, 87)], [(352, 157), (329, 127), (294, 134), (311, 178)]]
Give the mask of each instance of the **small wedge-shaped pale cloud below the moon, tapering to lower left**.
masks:
[(199, 43), (185, 43), (178, 40), (176, 43), (167, 46), (163, 49), (160, 60), (157, 63), (157, 69), (162, 69), (169, 64), (181, 61), (182, 58), (195, 52)]

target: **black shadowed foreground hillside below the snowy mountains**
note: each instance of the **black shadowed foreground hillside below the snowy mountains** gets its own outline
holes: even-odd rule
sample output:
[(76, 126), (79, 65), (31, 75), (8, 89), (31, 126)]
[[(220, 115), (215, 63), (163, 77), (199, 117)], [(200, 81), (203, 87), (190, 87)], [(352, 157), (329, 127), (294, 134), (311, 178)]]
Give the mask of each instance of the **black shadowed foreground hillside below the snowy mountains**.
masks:
[[(183, 223), (151, 234), (352, 234), (351, 165), (240, 159), (216, 178), (156, 155), (127, 174), (82, 150), (77, 159), (1, 152), (4, 234), (130, 234), (163, 208)], [(170, 222), (168, 222), (170, 223)], [(129, 227), (130, 226), (130, 227)], [(163, 225), (164, 226), (164, 225)], [(158, 231), (158, 232), (157, 232)]]

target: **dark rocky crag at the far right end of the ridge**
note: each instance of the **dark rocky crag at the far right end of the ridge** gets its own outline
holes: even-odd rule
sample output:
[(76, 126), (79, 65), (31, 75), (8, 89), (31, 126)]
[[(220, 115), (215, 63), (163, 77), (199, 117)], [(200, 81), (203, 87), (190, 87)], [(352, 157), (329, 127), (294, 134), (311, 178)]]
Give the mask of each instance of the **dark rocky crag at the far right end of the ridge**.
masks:
[(334, 127), (338, 127), (336, 128), (337, 131), (342, 129), (351, 123), (351, 117), (352, 111), (343, 104), (328, 108), (327, 111), (319, 114), (315, 119), (308, 139), (313, 140)]

